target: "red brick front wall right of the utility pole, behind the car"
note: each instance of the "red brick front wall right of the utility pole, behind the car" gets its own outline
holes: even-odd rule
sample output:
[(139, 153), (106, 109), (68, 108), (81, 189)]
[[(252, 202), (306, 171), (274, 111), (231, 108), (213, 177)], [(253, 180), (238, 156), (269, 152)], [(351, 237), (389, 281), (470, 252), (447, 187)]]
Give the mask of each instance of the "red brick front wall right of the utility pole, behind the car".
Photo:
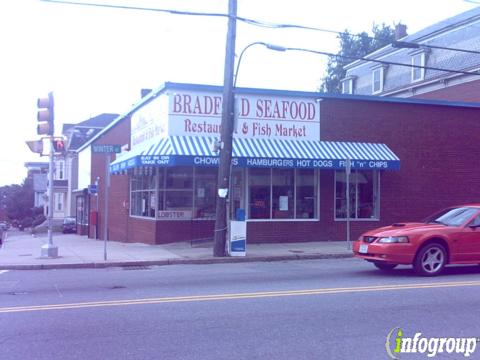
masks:
[[(480, 202), (480, 109), (352, 100), (321, 103), (321, 139), (387, 144), (400, 171), (380, 179), (380, 220), (351, 221), (351, 239), (450, 205)], [(248, 242), (345, 240), (334, 220), (334, 172), (321, 171), (320, 221), (249, 222)]]

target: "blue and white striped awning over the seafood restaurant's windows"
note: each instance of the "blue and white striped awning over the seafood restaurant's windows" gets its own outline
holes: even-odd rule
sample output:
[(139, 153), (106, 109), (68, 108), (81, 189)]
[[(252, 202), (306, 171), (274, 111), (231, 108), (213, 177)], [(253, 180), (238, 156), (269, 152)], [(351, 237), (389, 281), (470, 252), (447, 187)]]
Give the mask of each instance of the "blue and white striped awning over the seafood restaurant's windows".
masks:
[[(149, 166), (218, 166), (216, 138), (170, 136), (121, 154), (110, 164), (117, 173)], [(385, 144), (234, 138), (232, 164), (240, 167), (398, 170), (400, 160)]]

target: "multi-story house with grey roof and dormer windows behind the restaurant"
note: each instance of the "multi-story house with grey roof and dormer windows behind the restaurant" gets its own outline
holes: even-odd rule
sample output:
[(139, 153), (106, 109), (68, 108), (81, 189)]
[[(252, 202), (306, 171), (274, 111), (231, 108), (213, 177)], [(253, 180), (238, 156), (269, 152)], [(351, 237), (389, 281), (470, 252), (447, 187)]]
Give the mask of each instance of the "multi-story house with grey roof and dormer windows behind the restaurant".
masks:
[(412, 35), (398, 25), (395, 43), (345, 67), (342, 92), (480, 101), (479, 28), (480, 7)]

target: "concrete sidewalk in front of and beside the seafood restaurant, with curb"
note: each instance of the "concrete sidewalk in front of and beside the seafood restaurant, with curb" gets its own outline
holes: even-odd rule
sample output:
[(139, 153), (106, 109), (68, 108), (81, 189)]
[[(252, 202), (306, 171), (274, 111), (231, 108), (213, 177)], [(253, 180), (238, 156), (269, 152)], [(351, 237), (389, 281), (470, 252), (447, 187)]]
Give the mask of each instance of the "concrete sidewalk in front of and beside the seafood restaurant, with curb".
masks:
[(190, 242), (166, 245), (107, 242), (76, 234), (53, 234), (58, 258), (41, 258), (41, 246), (48, 243), (46, 234), (9, 231), (0, 248), (0, 270), (61, 268), (103, 268), (111, 266), (149, 266), (171, 264), (214, 264), (251, 261), (279, 261), (351, 257), (345, 241), (247, 244), (245, 257), (213, 257), (213, 244), (191, 246)]

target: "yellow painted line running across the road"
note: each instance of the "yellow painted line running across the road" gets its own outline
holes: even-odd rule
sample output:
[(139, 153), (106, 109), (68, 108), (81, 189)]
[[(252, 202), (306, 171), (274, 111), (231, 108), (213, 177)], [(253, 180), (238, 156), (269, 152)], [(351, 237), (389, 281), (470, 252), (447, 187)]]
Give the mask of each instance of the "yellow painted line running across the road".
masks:
[(232, 294), (216, 294), (216, 295), (191, 295), (191, 296), (175, 296), (175, 297), (162, 297), (162, 298), (131, 299), (131, 300), (93, 301), (93, 302), (70, 303), (70, 304), (15, 306), (15, 307), (0, 308), (0, 313), (82, 309), (82, 308), (107, 307), (107, 306), (150, 305), (150, 304), (177, 303), (177, 302), (259, 299), (259, 298), (285, 297), (285, 296), (327, 295), (327, 294), (356, 293), (356, 292), (418, 290), (418, 289), (434, 289), (434, 288), (466, 287), (466, 286), (480, 286), (480, 281), (452, 281), (452, 282), (434, 282), (434, 283), (424, 283), (424, 284), (375, 285), (375, 286), (357, 286), (357, 287), (345, 287), (345, 288), (267, 291), (267, 292), (237, 293), (237, 294), (232, 293)]

